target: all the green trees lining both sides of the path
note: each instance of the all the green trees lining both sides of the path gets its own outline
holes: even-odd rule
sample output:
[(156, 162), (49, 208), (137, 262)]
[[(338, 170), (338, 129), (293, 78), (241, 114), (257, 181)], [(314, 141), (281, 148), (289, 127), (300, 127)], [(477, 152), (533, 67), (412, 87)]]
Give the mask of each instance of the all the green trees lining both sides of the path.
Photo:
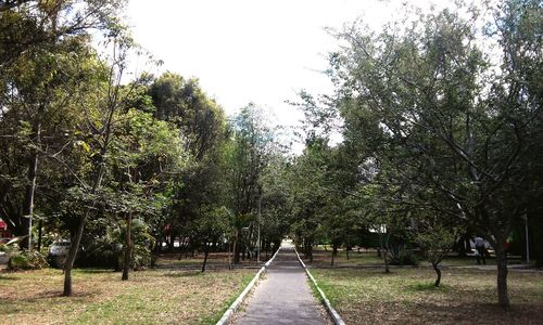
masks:
[(527, 219), (542, 229), (538, 1), (337, 32), (336, 92), (301, 94), (296, 157), (255, 105), (228, 119), (197, 79), (122, 83), (143, 53), (123, 4), (0, 2), (0, 213), (28, 250), (43, 233), (71, 237), (64, 295), (78, 251), (123, 255), (126, 280), (176, 240), (204, 252), (203, 271), (214, 246), (237, 263), (290, 233), (312, 259), (319, 242), (336, 252), (377, 233), (386, 270), (407, 251), (392, 243), (412, 243), (440, 276), (452, 244), (478, 233), (509, 304), (504, 243)]

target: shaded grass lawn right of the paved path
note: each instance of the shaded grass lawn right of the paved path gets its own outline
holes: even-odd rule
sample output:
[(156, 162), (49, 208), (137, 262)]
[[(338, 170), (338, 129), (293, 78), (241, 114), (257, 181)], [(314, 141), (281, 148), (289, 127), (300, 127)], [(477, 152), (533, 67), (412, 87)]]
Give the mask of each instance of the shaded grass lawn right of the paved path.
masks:
[(495, 271), (446, 269), (440, 288), (427, 268), (311, 272), (346, 324), (543, 323), (542, 272), (509, 272), (508, 311), (496, 306)]

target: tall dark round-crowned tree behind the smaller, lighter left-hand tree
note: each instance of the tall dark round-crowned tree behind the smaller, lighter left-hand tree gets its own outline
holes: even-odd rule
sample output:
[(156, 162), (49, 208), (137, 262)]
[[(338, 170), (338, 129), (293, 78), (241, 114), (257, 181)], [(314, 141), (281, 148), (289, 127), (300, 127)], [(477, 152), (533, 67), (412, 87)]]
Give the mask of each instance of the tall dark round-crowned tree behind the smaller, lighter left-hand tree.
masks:
[(225, 205), (226, 118), (223, 108), (207, 96), (197, 79), (186, 80), (177, 74), (165, 73), (150, 82), (148, 94), (155, 107), (154, 117), (177, 126), (190, 155), (191, 164), (179, 176), (175, 188), (169, 238), (181, 235), (185, 245), (194, 248), (201, 239), (194, 236), (201, 232), (194, 231), (199, 226), (193, 222), (201, 223), (202, 218), (210, 216), (205, 211)]

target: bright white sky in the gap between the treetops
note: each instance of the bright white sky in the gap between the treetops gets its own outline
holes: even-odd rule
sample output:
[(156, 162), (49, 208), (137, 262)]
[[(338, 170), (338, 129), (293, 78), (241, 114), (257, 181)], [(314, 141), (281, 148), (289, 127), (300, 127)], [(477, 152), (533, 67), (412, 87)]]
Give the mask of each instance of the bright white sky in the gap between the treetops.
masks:
[(341, 28), (359, 16), (378, 26), (403, 2), (130, 0), (127, 17), (136, 41), (164, 61), (160, 72), (199, 78), (229, 115), (254, 102), (277, 123), (292, 126), (301, 114), (286, 100), (295, 101), (302, 89), (314, 94), (331, 89), (320, 72), (337, 42), (324, 27)]

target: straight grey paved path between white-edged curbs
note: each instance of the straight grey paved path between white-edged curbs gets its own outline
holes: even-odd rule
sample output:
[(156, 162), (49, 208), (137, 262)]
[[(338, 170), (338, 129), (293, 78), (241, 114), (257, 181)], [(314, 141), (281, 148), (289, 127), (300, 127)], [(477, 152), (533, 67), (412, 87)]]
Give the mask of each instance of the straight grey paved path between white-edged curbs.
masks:
[(283, 243), (237, 324), (331, 324), (324, 313), (294, 248)]

